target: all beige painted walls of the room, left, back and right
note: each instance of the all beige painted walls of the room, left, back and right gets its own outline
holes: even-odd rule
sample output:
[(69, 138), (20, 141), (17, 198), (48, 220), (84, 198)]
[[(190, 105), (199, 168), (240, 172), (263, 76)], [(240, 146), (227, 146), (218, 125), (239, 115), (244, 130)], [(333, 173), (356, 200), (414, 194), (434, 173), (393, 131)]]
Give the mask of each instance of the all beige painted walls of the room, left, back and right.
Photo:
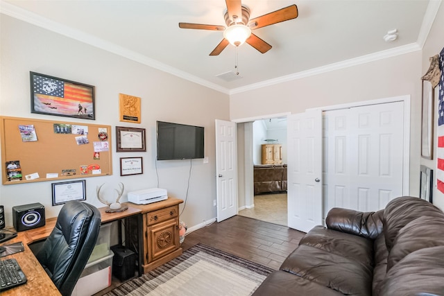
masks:
[[(0, 115), (67, 121), (63, 117), (30, 113), (29, 71), (37, 71), (95, 85), (94, 123), (146, 128), (146, 153), (113, 151), (113, 175), (86, 179), (87, 202), (97, 206), (101, 204), (96, 200), (95, 189), (103, 183), (108, 187), (105, 193), (110, 195), (110, 199), (111, 196), (114, 197), (113, 186), (117, 182), (125, 184), (126, 192), (160, 186), (168, 189), (169, 195), (185, 199), (190, 162), (157, 162), (156, 169), (157, 120), (205, 127), (205, 155), (210, 158), (210, 163), (192, 161), (189, 197), (182, 214), (182, 219), (190, 227), (202, 225), (203, 221), (216, 216), (213, 207), (213, 200), (216, 198), (214, 119), (245, 119), (282, 112), (298, 113), (311, 107), (410, 95), (410, 195), (418, 196), (420, 164), (436, 170), (436, 159), (427, 161), (420, 157), (420, 76), (428, 68), (429, 56), (438, 53), (444, 46), (443, 5), (438, 11), (423, 51), (232, 94), (230, 98), (226, 94), (6, 15), (1, 15), (0, 21)], [(119, 93), (142, 98), (141, 124), (119, 122)], [(144, 157), (143, 175), (119, 176), (119, 157), (128, 156)], [(38, 157), (51, 160), (51, 155)], [(3, 169), (0, 171), (3, 173)], [(51, 183), (0, 185), (0, 204), (6, 206), (7, 224), (12, 225), (11, 207), (17, 204), (41, 202), (46, 207), (47, 216), (56, 216), (60, 206), (51, 205)], [(436, 191), (434, 195), (434, 203), (444, 208), (443, 195)]]

